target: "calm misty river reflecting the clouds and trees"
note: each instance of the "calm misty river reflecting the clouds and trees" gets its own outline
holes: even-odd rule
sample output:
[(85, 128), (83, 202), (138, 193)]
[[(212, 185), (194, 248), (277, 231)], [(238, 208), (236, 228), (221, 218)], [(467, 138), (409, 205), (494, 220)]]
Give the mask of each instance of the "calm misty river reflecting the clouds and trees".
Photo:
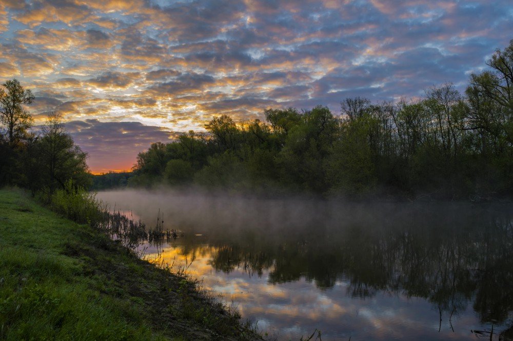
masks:
[(188, 271), (278, 339), (513, 339), (511, 205), (98, 194), (184, 237)]

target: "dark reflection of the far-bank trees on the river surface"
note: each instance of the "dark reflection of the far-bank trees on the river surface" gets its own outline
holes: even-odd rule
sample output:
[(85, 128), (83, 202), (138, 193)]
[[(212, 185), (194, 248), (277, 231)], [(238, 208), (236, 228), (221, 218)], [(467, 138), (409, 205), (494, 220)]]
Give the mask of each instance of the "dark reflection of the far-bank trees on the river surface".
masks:
[[(510, 211), (458, 204), (390, 208), (370, 210), (369, 216), (343, 209), (330, 219), (318, 212), (313, 220), (283, 229), (211, 224), (201, 240), (186, 236), (181, 253), (194, 254), (208, 244), (216, 270), (244, 269), (249, 276), (267, 270), (270, 284), (305, 278), (326, 289), (345, 281), (353, 297), (422, 297), (438, 309), (440, 324), (468, 305), (482, 324), (507, 321), (513, 311)], [(513, 327), (500, 335), (513, 337)]]

